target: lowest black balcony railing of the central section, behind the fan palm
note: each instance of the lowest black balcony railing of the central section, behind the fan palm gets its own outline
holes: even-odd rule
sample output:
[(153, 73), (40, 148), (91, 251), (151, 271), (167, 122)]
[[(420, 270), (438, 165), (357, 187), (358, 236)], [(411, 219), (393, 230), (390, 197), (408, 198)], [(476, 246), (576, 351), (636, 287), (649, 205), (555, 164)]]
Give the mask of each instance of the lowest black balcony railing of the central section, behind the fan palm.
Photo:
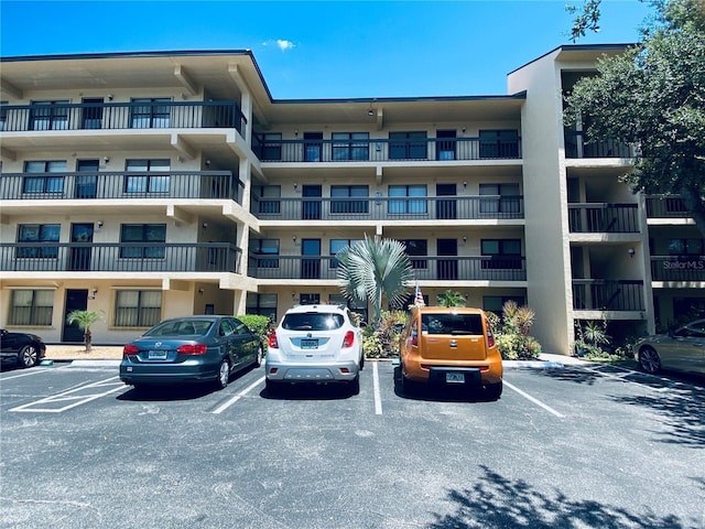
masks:
[[(525, 261), (520, 257), (413, 256), (419, 280), (525, 281)], [(250, 255), (248, 274), (258, 279), (337, 279), (334, 256)]]

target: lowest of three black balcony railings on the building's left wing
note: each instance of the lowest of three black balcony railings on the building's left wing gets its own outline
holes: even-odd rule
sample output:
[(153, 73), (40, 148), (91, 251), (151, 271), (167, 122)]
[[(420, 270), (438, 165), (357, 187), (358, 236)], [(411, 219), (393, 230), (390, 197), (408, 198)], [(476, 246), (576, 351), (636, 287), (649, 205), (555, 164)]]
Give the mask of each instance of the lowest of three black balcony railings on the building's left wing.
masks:
[(2, 270), (21, 272), (232, 272), (242, 251), (229, 242), (15, 242), (0, 245)]

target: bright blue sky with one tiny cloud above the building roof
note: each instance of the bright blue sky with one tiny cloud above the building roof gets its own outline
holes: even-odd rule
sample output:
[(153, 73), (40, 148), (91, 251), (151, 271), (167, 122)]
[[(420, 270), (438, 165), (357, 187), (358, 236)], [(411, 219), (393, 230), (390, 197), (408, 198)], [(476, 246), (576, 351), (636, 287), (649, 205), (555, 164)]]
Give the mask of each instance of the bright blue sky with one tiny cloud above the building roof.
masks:
[[(0, 55), (249, 48), (275, 99), (500, 95), (582, 1), (0, 0)], [(579, 44), (636, 42), (652, 10), (601, 12)]]

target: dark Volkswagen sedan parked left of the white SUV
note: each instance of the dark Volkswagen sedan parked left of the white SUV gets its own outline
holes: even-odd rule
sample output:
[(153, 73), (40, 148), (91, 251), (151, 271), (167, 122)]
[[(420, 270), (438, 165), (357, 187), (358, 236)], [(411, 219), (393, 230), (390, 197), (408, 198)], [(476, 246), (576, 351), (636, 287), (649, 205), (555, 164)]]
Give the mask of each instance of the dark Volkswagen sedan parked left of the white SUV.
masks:
[(120, 379), (134, 386), (214, 382), (262, 363), (260, 337), (232, 316), (164, 320), (122, 350)]

